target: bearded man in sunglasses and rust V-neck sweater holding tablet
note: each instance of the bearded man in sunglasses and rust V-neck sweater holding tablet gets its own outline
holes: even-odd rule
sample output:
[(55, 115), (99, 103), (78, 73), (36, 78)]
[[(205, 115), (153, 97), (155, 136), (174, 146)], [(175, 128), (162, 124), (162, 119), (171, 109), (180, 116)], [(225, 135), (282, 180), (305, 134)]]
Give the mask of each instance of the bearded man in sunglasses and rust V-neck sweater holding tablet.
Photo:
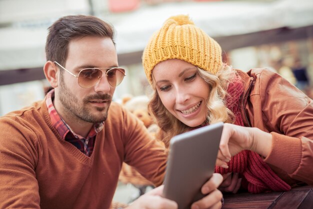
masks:
[[(166, 155), (143, 124), (112, 102), (118, 67), (111, 25), (65, 16), (49, 27), (42, 101), (0, 117), (0, 208), (108, 208), (123, 161), (160, 185)], [(220, 175), (192, 206), (219, 207)], [(162, 187), (129, 208), (176, 208)]]

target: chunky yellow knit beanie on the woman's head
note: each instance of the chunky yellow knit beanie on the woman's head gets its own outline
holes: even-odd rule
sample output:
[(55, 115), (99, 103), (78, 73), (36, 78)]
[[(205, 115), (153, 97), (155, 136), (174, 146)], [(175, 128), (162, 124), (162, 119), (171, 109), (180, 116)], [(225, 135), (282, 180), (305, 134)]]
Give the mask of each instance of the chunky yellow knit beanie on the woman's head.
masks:
[(142, 54), (148, 81), (153, 67), (166, 59), (181, 59), (215, 74), (222, 65), (219, 44), (195, 26), (188, 15), (169, 17), (150, 37)]

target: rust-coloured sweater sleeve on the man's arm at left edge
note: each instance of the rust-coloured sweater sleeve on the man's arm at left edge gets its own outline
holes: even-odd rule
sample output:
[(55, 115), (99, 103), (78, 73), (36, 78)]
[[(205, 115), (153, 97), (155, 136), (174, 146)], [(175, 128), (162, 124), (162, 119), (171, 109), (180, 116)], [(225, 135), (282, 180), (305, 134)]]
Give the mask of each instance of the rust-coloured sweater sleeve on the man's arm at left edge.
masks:
[(14, 117), (0, 118), (0, 208), (40, 208), (31, 135)]

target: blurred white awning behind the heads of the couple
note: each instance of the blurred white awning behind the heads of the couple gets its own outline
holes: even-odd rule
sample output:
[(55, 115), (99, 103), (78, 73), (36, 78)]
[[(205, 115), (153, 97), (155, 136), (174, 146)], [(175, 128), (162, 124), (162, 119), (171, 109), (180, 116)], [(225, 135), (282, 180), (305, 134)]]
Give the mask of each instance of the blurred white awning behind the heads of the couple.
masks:
[[(122, 14), (112, 22), (117, 53), (141, 51), (152, 32), (176, 14), (188, 14), (212, 37), (313, 25), (312, 0), (164, 3)], [(42, 66), (46, 34), (46, 28), (1, 28), (0, 70)]]

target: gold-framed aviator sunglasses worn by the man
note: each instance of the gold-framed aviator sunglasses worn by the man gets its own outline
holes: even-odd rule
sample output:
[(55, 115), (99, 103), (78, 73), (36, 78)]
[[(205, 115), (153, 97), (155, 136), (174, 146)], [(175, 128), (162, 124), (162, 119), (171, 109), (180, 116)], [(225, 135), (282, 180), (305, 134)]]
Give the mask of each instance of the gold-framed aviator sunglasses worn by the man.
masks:
[[(67, 71), (69, 74), (75, 76), (78, 78), (78, 85), (82, 88), (90, 88), (97, 84), (97, 82), (101, 79), (102, 74), (105, 73), (106, 79), (110, 86), (115, 87), (117, 86), (124, 78), (125, 76), (125, 69), (121, 67), (109, 67), (109, 68), (98, 68), (98, 67), (92, 67), (92, 68), (84, 68), (79, 71), (78, 75), (74, 75), (65, 67), (60, 65), (57, 61), (54, 61), (55, 64), (62, 67), (65, 71)], [(104, 71), (106, 70), (106, 71)]]

